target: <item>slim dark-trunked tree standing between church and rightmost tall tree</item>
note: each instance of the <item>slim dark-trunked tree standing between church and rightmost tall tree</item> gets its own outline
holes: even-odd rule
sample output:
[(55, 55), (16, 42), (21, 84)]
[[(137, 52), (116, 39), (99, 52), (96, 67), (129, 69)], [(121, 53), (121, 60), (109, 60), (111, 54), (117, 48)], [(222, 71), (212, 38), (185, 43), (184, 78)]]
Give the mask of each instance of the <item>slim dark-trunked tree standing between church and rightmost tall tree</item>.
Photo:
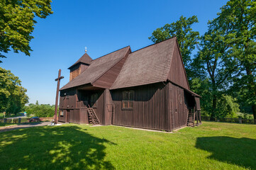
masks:
[(210, 80), (211, 118), (216, 118), (218, 98), (228, 88), (232, 74), (238, 72), (237, 62), (230, 58), (229, 47), (220, 35), (220, 30), (213, 30), (209, 22), (208, 32), (201, 37), (201, 49), (194, 58), (195, 68), (201, 68)]

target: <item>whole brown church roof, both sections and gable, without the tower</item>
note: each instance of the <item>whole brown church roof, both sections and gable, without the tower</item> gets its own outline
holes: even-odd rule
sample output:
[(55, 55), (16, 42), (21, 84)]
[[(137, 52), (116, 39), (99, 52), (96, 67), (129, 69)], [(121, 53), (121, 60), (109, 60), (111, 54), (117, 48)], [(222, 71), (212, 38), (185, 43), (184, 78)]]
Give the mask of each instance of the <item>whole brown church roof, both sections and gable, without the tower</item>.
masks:
[(124, 47), (92, 60), (84, 72), (60, 90), (85, 84), (121, 89), (164, 81), (190, 90), (177, 38), (169, 38), (135, 52), (130, 51), (130, 46)]

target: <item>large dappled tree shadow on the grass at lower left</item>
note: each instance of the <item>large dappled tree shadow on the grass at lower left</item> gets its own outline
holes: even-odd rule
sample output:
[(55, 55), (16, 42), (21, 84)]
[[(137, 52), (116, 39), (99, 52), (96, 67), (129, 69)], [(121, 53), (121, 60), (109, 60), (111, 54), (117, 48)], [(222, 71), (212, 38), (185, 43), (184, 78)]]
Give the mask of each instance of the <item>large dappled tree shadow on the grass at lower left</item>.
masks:
[(77, 126), (37, 127), (0, 134), (0, 169), (114, 169), (104, 144)]

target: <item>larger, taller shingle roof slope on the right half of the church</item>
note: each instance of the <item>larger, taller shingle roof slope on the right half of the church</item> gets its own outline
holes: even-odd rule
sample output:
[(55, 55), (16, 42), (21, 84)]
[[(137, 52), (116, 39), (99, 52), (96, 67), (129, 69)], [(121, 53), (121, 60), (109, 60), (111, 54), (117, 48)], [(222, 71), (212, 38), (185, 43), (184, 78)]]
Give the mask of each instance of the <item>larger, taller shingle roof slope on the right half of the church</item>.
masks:
[(130, 53), (111, 89), (167, 81), (176, 38)]

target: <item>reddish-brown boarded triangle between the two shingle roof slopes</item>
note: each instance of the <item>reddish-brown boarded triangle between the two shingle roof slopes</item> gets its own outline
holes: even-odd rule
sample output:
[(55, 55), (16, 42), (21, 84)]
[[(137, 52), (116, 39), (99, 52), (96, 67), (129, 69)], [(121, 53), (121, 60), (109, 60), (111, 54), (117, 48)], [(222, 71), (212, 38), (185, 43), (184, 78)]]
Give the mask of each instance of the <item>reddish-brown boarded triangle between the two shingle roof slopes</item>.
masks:
[(129, 55), (129, 50), (126, 53), (126, 56), (123, 57), (122, 60), (116, 63), (103, 76), (99, 77), (99, 79), (94, 81), (93, 85), (97, 87), (109, 89), (112, 86), (113, 82), (116, 80), (116, 77), (118, 77), (118, 74), (120, 73), (123, 67), (123, 64), (126, 62), (128, 55)]

